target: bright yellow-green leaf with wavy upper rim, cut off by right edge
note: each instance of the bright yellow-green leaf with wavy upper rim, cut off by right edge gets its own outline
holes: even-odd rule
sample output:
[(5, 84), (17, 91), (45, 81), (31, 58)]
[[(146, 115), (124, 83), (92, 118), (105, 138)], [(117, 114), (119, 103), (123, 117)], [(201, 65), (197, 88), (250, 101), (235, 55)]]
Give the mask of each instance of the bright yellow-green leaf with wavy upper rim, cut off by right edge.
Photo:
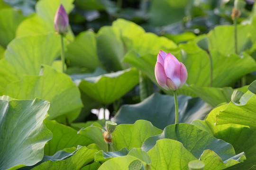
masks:
[(230, 102), (225, 110), (216, 116), (216, 125), (236, 123), (256, 127), (256, 95), (254, 94), (245, 105)]

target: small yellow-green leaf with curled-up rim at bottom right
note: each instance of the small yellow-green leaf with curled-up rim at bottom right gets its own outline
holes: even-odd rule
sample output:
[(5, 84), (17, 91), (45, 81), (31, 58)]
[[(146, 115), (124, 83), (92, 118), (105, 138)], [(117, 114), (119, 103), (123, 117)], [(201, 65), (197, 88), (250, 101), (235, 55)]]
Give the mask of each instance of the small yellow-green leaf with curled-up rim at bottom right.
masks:
[(200, 160), (205, 164), (205, 170), (224, 170), (240, 162), (243, 162), (245, 159), (246, 157), (244, 154), (238, 154), (229, 160), (222, 161), (219, 155), (209, 149), (204, 150), (200, 156)]

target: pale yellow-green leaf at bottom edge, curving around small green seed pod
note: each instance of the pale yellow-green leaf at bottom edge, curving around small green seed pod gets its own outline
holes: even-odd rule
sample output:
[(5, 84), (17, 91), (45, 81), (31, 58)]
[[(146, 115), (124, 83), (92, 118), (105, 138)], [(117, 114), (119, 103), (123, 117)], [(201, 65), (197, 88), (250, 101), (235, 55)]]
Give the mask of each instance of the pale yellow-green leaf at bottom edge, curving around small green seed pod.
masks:
[(131, 170), (128, 167), (133, 161), (140, 160), (130, 155), (116, 157), (104, 162), (98, 170)]

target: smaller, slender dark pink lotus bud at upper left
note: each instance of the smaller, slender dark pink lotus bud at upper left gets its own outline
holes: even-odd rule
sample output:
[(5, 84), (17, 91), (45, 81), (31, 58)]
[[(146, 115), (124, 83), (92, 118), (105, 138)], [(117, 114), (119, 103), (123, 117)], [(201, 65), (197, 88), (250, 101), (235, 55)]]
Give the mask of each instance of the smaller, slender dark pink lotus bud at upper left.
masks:
[(68, 15), (65, 11), (65, 8), (61, 4), (54, 18), (55, 31), (59, 34), (66, 34), (68, 33), (68, 26), (69, 26)]

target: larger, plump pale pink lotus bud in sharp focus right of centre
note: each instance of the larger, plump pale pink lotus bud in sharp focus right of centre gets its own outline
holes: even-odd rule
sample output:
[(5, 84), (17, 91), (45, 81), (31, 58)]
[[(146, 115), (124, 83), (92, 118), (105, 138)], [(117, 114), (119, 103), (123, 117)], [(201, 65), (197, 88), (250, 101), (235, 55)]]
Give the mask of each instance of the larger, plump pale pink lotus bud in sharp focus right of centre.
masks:
[(173, 54), (166, 54), (160, 50), (155, 64), (155, 78), (165, 90), (175, 91), (185, 84), (188, 72), (184, 64), (179, 62)]

